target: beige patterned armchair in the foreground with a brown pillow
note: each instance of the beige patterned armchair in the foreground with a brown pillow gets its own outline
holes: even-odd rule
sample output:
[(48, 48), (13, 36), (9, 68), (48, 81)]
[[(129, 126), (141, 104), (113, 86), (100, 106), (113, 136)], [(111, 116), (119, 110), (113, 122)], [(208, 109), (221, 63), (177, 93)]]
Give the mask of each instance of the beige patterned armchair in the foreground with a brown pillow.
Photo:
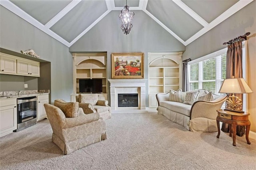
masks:
[(52, 127), (52, 142), (63, 152), (74, 150), (106, 139), (106, 124), (98, 113), (86, 115), (78, 102), (55, 100), (54, 105), (44, 104)]

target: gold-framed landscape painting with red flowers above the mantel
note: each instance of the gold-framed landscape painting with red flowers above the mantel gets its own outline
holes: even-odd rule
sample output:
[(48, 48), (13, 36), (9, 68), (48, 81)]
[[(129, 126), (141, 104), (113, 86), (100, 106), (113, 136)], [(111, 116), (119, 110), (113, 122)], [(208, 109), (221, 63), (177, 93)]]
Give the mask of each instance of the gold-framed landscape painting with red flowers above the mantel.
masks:
[(111, 53), (112, 79), (144, 79), (144, 53)]

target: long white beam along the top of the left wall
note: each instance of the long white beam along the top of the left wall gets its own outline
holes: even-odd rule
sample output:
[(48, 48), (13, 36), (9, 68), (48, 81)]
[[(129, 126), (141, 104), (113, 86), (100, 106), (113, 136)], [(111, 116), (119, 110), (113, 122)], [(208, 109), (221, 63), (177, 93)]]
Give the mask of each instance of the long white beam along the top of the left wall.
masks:
[(43, 32), (45, 32), (46, 34), (51, 36), (52, 38), (58, 40), (59, 42), (63, 43), (66, 46), (69, 46), (69, 43), (66, 40), (64, 40), (63, 38), (58, 36), (56, 33), (52, 32), (48, 28), (45, 28), (42, 23), (38, 22), (38, 20), (36, 20), (32, 16), (28, 15), (26, 12), (21, 10), (18, 6), (16, 6), (12, 2), (10, 2), (9, 0), (0, 0), (0, 5), (2, 5), (6, 9), (10, 10), (11, 12), (16, 14), (17, 16), (19, 16), (23, 20), (27, 21), (28, 23), (32, 24), (33, 26), (35, 26), (39, 30), (42, 30)]

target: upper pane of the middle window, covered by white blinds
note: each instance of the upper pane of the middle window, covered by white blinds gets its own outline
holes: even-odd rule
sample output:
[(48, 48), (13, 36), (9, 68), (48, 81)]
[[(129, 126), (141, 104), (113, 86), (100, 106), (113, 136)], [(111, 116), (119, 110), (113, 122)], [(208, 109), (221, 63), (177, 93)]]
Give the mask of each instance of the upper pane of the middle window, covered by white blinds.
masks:
[(215, 57), (202, 61), (203, 63), (203, 80), (215, 80), (216, 77), (216, 60)]

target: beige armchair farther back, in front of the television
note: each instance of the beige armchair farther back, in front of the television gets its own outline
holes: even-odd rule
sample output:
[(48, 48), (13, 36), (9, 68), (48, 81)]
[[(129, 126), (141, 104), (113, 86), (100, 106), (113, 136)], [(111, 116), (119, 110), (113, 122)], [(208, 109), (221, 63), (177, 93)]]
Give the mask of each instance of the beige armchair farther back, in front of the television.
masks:
[(100, 119), (110, 119), (111, 112), (107, 100), (99, 100), (97, 94), (79, 94), (76, 96), (76, 101), (79, 102), (85, 114), (99, 113)]

